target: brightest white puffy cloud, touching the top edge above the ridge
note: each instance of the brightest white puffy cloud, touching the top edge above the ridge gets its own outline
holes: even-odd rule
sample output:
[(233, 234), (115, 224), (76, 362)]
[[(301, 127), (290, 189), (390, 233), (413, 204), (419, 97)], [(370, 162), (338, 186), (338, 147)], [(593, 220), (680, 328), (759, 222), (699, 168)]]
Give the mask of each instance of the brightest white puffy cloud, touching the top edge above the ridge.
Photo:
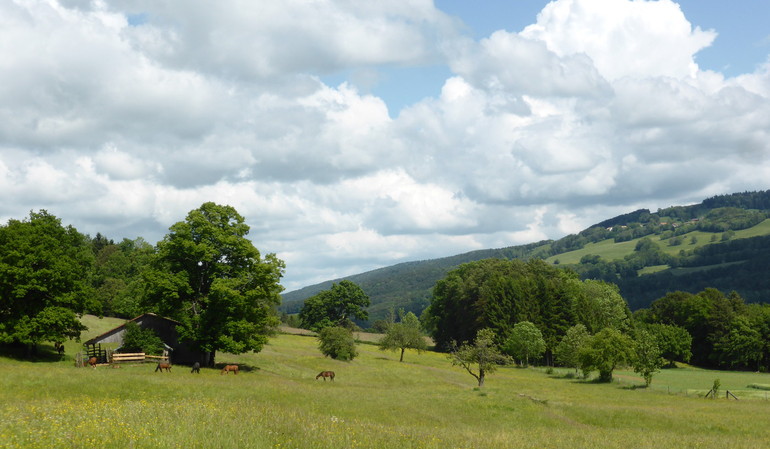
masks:
[(555, 1), (521, 34), (545, 42), (561, 57), (587, 55), (610, 81), (694, 77), (695, 53), (716, 38), (714, 31), (693, 28), (670, 0)]

